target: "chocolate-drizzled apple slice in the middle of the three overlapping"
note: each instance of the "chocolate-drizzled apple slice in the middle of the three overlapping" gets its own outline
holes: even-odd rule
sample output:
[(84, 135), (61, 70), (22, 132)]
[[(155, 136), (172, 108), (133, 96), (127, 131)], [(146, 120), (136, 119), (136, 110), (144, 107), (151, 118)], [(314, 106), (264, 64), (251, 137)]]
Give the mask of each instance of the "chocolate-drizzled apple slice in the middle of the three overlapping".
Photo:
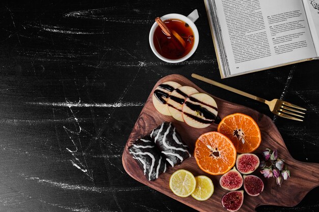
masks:
[(194, 87), (191, 87), (191, 86), (181, 86), (173, 90), (173, 92), (168, 97), (167, 105), (168, 105), (169, 112), (176, 120), (184, 122), (181, 116), (182, 105), (185, 102), (185, 99), (188, 98), (188, 96), (191, 96), (197, 93), (198, 93), (198, 90), (196, 90)]

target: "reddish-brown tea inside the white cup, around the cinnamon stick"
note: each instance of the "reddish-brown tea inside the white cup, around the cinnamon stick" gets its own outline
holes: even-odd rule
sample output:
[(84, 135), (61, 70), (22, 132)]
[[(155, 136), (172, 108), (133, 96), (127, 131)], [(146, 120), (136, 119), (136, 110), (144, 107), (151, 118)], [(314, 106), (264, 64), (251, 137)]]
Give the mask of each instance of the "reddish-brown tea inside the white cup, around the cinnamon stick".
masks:
[(183, 47), (174, 37), (165, 35), (161, 27), (157, 26), (154, 32), (154, 46), (156, 51), (168, 59), (179, 59), (187, 55), (194, 45), (194, 33), (189, 24), (179, 19), (167, 19), (164, 21), (169, 29), (173, 29), (185, 41)]

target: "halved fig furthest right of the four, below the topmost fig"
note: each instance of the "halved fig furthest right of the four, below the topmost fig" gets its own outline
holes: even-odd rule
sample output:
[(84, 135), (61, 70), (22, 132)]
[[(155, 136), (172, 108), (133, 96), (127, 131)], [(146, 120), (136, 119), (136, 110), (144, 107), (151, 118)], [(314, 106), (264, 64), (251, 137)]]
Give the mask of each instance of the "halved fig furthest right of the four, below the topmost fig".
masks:
[(258, 196), (263, 191), (262, 180), (255, 175), (244, 175), (244, 189), (250, 196)]

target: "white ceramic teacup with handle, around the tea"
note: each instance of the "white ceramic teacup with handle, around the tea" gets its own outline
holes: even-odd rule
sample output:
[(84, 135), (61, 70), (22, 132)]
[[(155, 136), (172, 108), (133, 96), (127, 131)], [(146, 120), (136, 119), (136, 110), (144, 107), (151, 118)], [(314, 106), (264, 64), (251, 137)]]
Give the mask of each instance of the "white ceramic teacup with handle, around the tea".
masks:
[(179, 62), (182, 62), (182, 61), (188, 59), (190, 56), (192, 56), (194, 54), (194, 52), (196, 51), (197, 46), (198, 46), (198, 42), (199, 42), (198, 29), (197, 29), (196, 25), (194, 24), (194, 22), (198, 19), (198, 17), (199, 17), (199, 15), (198, 15), (197, 10), (194, 10), (187, 17), (180, 15), (180, 14), (176, 14), (176, 13), (171, 13), (171, 14), (167, 14), (167, 15), (162, 16), (161, 19), (163, 21), (165, 21), (167, 19), (179, 19), (179, 20), (189, 24), (189, 26), (192, 28), (193, 33), (194, 33), (194, 45), (193, 45), (193, 48), (191, 49), (191, 51), (187, 55), (185, 55), (179, 59), (168, 59), (168, 58), (162, 56), (155, 49), (154, 42), (153, 42), (154, 32), (155, 32), (156, 27), (158, 26), (158, 24), (155, 22), (151, 28), (150, 33), (149, 33), (149, 45), (151, 46), (151, 49), (154, 52), (154, 54), (159, 59), (162, 59), (163, 61), (168, 62), (168, 63), (179, 63)]

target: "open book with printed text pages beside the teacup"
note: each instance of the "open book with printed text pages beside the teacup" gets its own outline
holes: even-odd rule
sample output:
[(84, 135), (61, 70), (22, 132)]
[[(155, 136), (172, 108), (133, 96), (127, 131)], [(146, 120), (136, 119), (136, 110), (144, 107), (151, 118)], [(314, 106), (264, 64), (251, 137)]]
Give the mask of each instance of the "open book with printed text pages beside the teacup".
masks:
[(204, 0), (222, 78), (319, 57), (319, 0)]

